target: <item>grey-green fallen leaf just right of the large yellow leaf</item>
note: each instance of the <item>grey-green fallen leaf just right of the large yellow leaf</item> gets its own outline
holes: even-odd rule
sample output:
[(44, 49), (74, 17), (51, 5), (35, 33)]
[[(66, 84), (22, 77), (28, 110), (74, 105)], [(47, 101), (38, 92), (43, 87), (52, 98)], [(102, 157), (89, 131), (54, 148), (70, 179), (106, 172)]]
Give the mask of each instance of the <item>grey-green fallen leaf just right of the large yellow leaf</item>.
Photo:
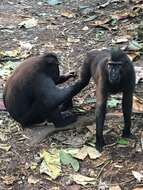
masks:
[(71, 165), (75, 171), (79, 170), (79, 162), (75, 158), (73, 158), (71, 154), (60, 151), (60, 160), (61, 163), (64, 165)]

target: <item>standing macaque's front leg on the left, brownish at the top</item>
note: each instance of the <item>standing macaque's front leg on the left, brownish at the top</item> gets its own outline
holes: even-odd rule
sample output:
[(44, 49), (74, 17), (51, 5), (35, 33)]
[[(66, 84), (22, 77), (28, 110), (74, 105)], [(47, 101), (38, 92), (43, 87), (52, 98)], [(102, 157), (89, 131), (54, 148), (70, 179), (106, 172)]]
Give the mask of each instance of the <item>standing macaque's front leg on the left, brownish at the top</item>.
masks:
[[(101, 86), (100, 86), (101, 88)], [(101, 89), (96, 88), (96, 148), (102, 151), (105, 145), (103, 128), (106, 114), (107, 95)]]

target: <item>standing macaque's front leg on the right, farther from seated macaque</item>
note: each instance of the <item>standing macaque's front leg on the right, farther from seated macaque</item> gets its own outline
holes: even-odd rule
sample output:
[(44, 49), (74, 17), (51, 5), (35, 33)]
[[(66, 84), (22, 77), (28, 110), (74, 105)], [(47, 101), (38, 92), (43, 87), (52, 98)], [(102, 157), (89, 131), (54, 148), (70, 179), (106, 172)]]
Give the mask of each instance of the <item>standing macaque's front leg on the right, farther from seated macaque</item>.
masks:
[(122, 109), (124, 115), (124, 129), (123, 137), (131, 136), (131, 114), (132, 114), (132, 102), (133, 102), (133, 93), (132, 92), (123, 92), (122, 100)]

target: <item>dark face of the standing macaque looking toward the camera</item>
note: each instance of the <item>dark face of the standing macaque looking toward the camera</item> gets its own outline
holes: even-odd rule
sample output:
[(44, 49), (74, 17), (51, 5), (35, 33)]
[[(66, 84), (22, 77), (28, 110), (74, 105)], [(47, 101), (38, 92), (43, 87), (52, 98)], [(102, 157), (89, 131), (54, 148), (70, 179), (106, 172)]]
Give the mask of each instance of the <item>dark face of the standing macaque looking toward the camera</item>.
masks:
[(108, 79), (111, 84), (118, 84), (121, 80), (121, 61), (109, 61), (107, 63)]

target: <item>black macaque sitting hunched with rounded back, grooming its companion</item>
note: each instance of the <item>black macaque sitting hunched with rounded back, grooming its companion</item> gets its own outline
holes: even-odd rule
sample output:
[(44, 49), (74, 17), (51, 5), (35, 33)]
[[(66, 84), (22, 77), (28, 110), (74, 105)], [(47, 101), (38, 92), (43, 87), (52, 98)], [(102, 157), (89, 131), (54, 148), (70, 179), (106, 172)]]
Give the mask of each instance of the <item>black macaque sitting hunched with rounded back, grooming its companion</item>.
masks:
[(59, 108), (73, 88), (58, 88), (56, 84), (71, 77), (74, 77), (73, 73), (60, 76), (59, 61), (53, 53), (29, 58), (6, 83), (3, 94), (5, 107), (23, 127), (45, 120), (53, 122), (55, 127), (64, 127), (76, 121), (75, 115), (61, 113)]

